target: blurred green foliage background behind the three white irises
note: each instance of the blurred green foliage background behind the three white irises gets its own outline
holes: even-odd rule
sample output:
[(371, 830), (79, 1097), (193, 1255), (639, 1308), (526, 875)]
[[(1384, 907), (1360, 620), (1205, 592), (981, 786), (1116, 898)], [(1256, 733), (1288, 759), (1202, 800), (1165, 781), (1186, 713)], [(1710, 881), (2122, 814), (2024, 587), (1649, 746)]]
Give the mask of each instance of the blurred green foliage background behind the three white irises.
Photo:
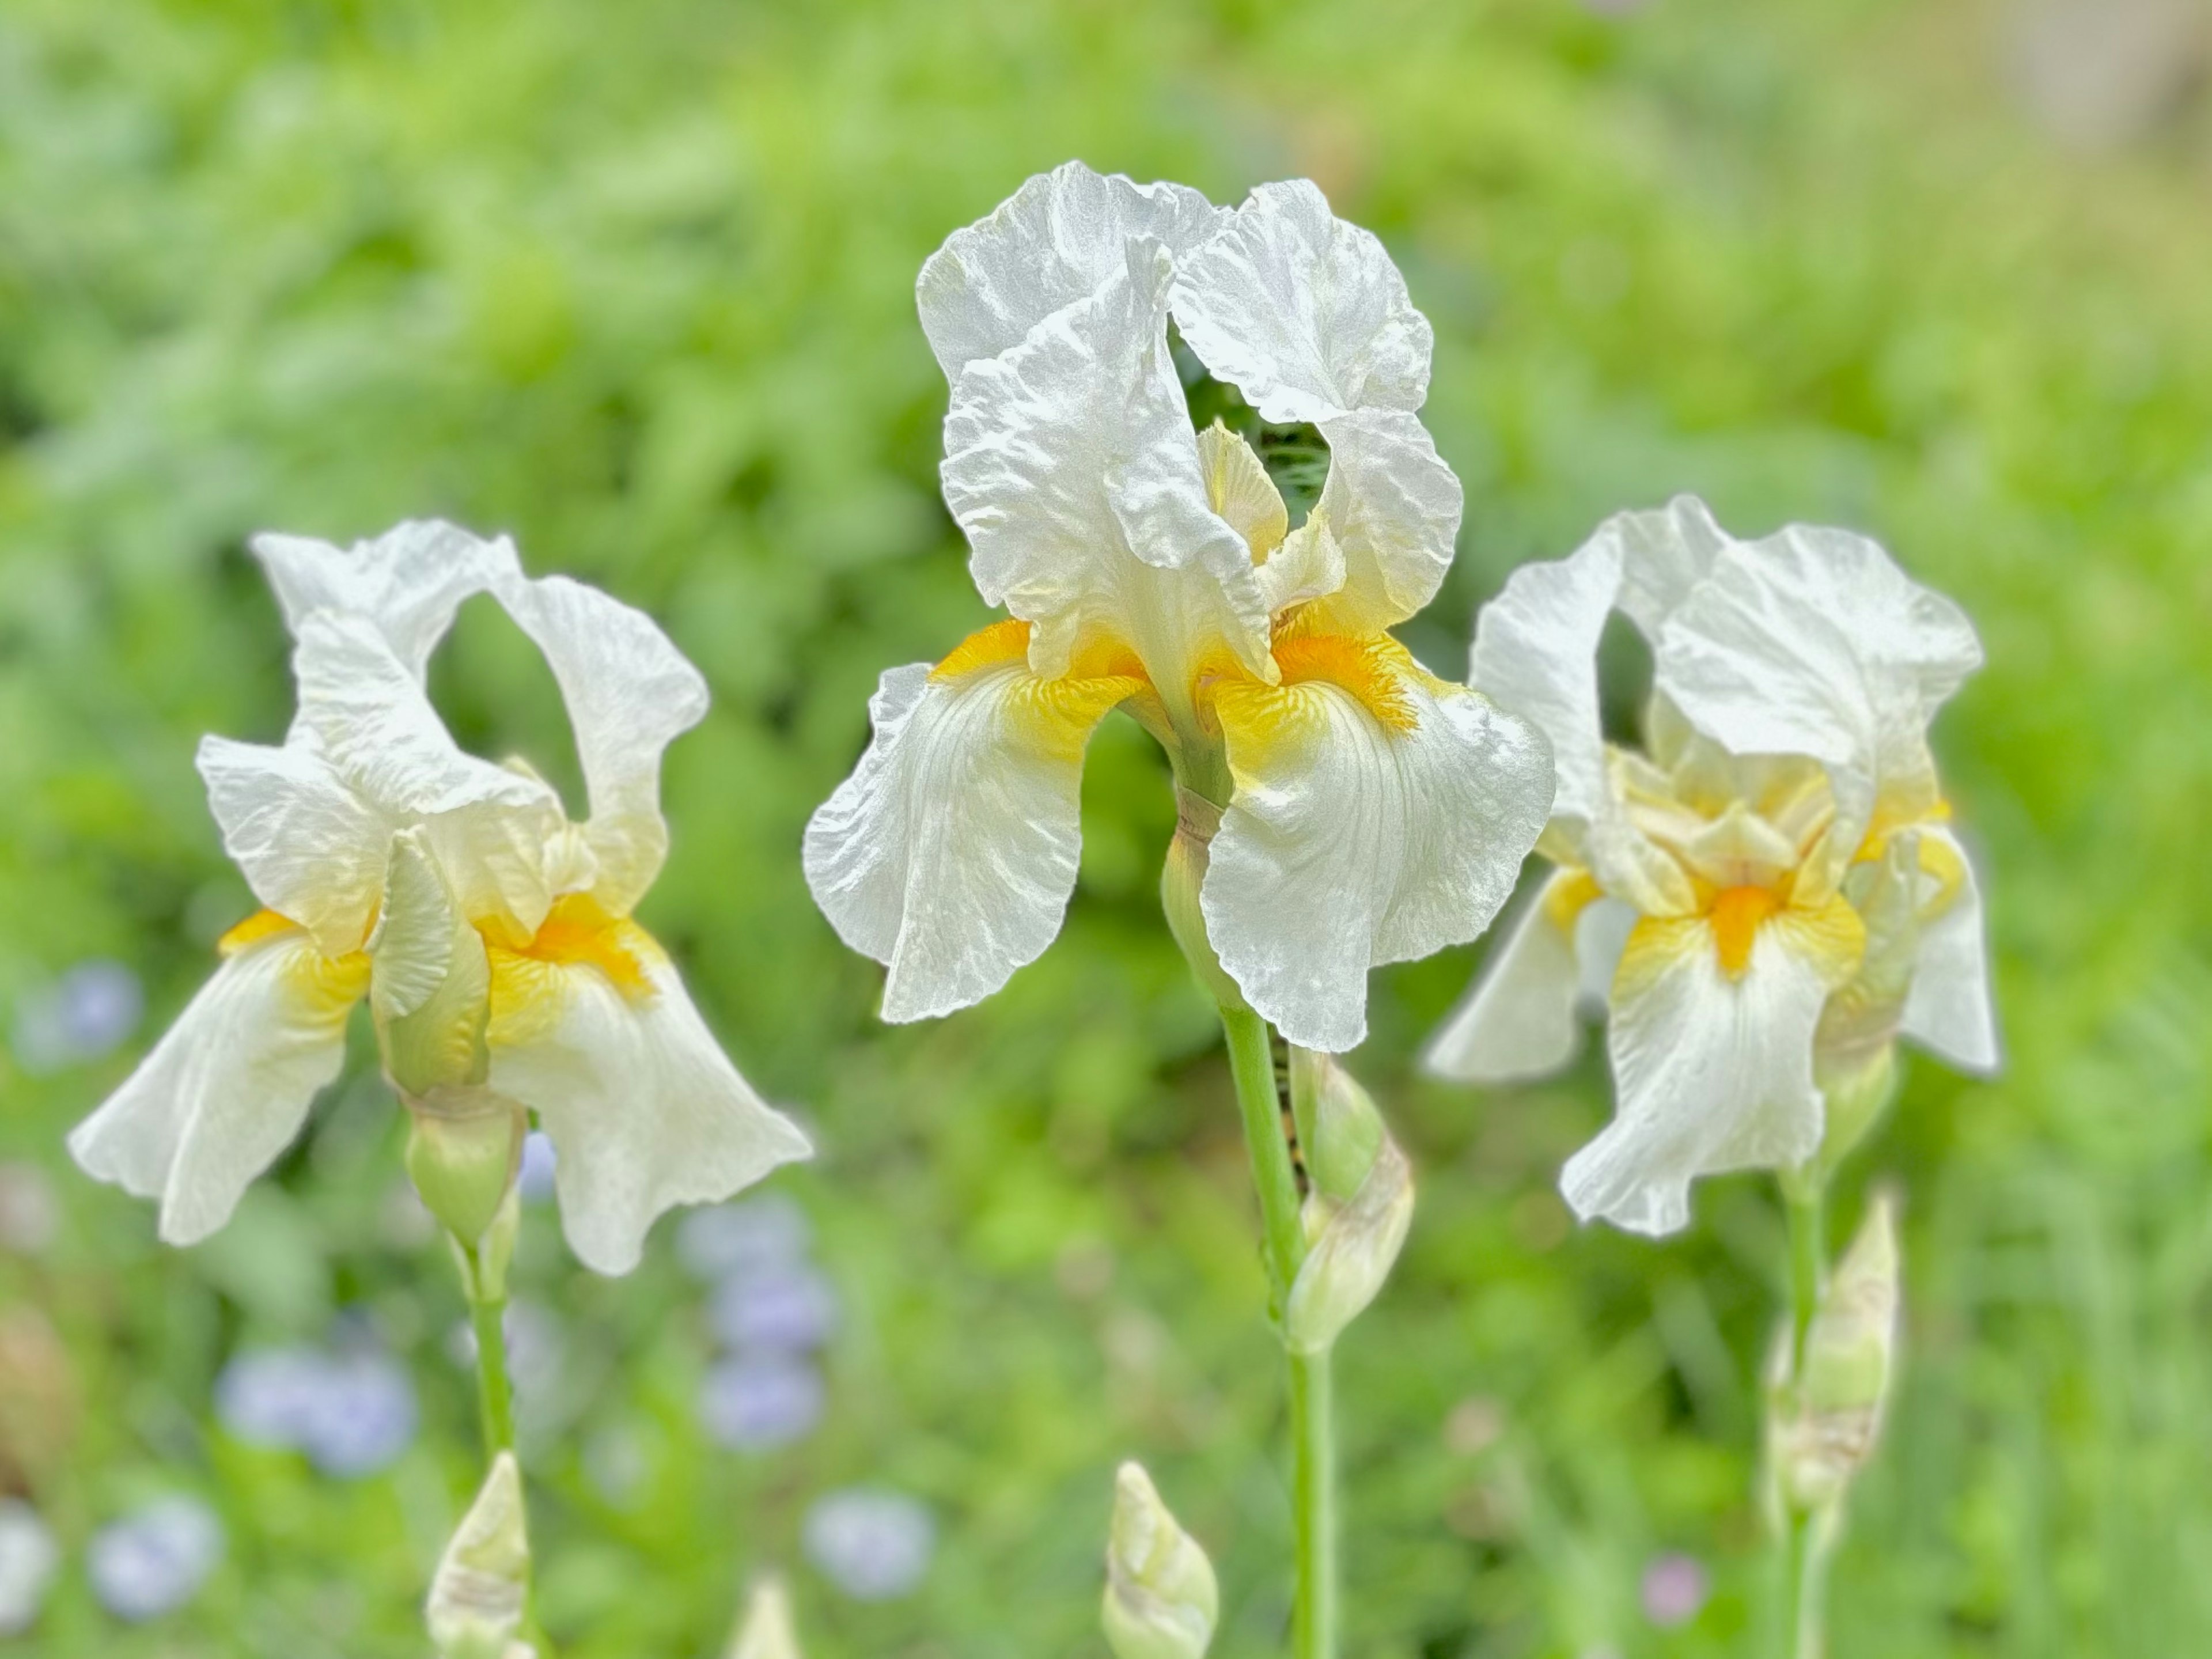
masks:
[[(1102, 730), (1066, 933), (922, 1029), (872, 1020), (876, 969), (796, 847), (876, 672), (984, 619), (936, 502), (920, 259), (1068, 155), (1219, 201), (1312, 175), (1438, 330), (1469, 518), (1405, 630), (1433, 666), (1513, 564), (1677, 489), (1741, 531), (1869, 529), (1980, 622), (1991, 666), (1938, 748), (2011, 1064), (1916, 1062), (1851, 1170), (1905, 1183), (1911, 1327), (1834, 1648), (2212, 1650), (2185, 1568), (2212, 1546), (2212, 166), (2201, 124), (2059, 155), (1995, 64), (1991, 7), (1913, 0), (7, 0), (0, 1004), (115, 956), (150, 1042), (250, 909), (192, 774), (201, 732), (288, 717), (248, 531), (515, 531), (712, 681), (646, 922), (818, 1126), (779, 1181), (847, 1301), (825, 1429), (737, 1458), (697, 1425), (666, 1228), (608, 1283), (533, 1212), (520, 1290), (580, 1356), (529, 1455), (562, 1652), (706, 1655), (781, 1564), (821, 1659), (1097, 1655), (1119, 1455), (1214, 1551), (1219, 1652), (1272, 1652), (1276, 1354), (1217, 1035), (1157, 920), (1157, 757)], [(434, 686), (465, 741), (562, 774), (551, 679), (498, 615), (462, 617)], [(1571, 1230), (1553, 1179), (1606, 1113), (1595, 1060), (1491, 1097), (1409, 1073), (1475, 960), (1378, 975), (1356, 1062), (1422, 1210), (1340, 1358), (1352, 1652), (1754, 1652), (1772, 1192), (1710, 1183), (1666, 1245)], [(27, 1652), (420, 1652), (471, 1405), (358, 1060), (234, 1228), (166, 1252), (60, 1152), (131, 1055), (0, 1057), (0, 1155), (64, 1199), (46, 1254), (0, 1256), (24, 1462), (0, 1480), (73, 1559)], [(210, 1418), (226, 1354), (338, 1307), (425, 1391), (416, 1449), (354, 1484)], [(644, 1449), (628, 1502), (588, 1473), (611, 1429)], [(847, 1482), (936, 1509), (914, 1597), (805, 1568), (799, 1515)], [(75, 1562), (166, 1489), (221, 1509), (230, 1557), (126, 1630)], [(1637, 1606), (1659, 1551), (1717, 1579), (1681, 1630)]]

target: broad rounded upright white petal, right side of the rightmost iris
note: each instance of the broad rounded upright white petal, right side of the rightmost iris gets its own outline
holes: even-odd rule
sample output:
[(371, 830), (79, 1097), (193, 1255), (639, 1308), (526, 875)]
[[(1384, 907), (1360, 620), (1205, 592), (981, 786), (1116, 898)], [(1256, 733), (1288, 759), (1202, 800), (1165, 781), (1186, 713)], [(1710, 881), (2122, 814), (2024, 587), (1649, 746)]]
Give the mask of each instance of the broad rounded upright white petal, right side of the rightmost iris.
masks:
[(1836, 794), (1825, 876), (1876, 810), (1936, 810), (1927, 730), (1982, 661), (1966, 615), (1849, 531), (1730, 544), (1655, 639), (1659, 692), (1736, 754), (1809, 754)]

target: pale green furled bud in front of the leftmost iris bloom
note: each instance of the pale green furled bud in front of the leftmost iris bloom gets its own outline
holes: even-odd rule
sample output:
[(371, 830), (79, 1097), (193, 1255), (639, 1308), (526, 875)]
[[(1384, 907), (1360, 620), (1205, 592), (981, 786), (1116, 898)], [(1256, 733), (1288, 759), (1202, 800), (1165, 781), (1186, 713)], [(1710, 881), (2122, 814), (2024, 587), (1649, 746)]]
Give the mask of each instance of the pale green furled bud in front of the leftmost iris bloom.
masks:
[(420, 830), (392, 838), (385, 907), (369, 938), (369, 1013), (385, 1075), (403, 1095), (491, 1075), (491, 960), (453, 905)]

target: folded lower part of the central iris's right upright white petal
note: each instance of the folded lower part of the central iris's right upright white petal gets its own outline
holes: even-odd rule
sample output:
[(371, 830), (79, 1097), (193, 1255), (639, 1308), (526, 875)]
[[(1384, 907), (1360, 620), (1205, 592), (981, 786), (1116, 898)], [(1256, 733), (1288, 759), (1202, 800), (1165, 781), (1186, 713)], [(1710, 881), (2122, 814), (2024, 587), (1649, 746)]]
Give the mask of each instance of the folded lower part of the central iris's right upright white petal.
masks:
[(1358, 409), (1323, 427), (1329, 478), (1314, 518), (1345, 555), (1345, 580), (1323, 608), (1329, 633), (1380, 633), (1444, 584), (1467, 498), (1418, 416)]

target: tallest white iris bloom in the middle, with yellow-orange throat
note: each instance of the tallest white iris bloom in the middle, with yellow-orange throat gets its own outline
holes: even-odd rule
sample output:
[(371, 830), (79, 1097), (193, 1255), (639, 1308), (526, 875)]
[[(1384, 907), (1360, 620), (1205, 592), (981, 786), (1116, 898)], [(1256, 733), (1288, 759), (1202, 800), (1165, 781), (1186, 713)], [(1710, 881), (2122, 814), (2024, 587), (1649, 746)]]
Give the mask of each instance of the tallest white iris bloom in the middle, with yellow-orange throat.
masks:
[[(1011, 617), (883, 675), (874, 743), (807, 827), (816, 900), (889, 964), (887, 1020), (987, 998), (1060, 931), (1084, 745), (1126, 708), (1212, 838), (1221, 967), (1292, 1042), (1352, 1048), (1367, 969), (1480, 933), (1551, 796), (1542, 739), (1387, 633), (1460, 526), (1398, 270), (1305, 181), (1230, 212), (1068, 164), (953, 232), (918, 292), (945, 500)], [(1192, 431), (1170, 316), (1263, 420), (1327, 440), (1296, 529), (1243, 438)]]

